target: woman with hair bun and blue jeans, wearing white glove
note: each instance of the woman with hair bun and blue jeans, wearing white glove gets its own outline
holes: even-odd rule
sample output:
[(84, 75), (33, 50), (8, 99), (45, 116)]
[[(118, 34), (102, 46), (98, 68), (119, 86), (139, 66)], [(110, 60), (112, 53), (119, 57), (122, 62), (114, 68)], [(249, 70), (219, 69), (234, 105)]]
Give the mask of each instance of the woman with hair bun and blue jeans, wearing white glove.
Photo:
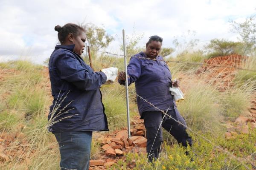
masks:
[(80, 55), (84, 52), (84, 28), (68, 23), (55, 26), (58, 40), (49, 59), (53, 102), (49, 131), (59, 144), (61, 170), (88, 170), (93, 131), (108, 130), (99, 88), (112, 80), (117, 68), (93, 72)]

